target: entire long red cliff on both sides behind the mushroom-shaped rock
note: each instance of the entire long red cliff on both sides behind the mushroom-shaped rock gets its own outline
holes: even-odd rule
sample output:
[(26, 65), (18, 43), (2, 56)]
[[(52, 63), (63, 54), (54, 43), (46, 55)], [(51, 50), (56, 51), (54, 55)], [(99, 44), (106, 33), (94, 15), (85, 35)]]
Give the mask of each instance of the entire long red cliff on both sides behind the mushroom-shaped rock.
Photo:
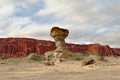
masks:
[[(98, 53), (102, 56), (120, 55), (119, 48), (110, 48), (108, 45), (67, 44), (66, 46), (73, 52)], [(0, 38), (0, 56), (5, 58), (26, 57), (30, 53), (44, 54), (45, 52), (53, 49), (55, 49), (55, 44), (51, 41), (31, 38)]]

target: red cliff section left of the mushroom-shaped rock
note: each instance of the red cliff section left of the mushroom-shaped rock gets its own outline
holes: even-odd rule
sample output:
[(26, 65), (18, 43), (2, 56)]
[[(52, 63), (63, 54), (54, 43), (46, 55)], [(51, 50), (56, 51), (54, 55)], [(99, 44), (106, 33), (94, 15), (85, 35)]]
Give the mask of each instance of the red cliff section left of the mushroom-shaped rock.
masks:
[(0, 56), (3, 58), (26, 57), (30, 53), (44, 54), (55, 49), (51, 41), (31, 38), (0, 38)]

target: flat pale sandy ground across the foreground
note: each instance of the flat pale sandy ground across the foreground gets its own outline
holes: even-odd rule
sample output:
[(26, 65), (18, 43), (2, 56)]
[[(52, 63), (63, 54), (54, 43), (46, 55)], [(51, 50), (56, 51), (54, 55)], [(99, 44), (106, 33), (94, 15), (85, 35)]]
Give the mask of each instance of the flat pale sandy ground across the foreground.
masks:
[(53, 66), (26, 59), (0, 60), (0, 80), (120, 80), (120, 57), (82, 66), (65, 61)]

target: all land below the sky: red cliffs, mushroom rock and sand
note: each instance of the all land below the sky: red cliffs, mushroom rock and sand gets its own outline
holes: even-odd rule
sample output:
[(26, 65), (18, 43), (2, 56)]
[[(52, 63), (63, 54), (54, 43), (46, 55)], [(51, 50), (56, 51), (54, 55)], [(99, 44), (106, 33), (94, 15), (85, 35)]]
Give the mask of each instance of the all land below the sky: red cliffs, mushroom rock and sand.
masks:
[(53, 27), (55, 43), (1, 38), (0, 80), (120, 80), (119, 48), (66, 44), (68, 34), (67, 29)]

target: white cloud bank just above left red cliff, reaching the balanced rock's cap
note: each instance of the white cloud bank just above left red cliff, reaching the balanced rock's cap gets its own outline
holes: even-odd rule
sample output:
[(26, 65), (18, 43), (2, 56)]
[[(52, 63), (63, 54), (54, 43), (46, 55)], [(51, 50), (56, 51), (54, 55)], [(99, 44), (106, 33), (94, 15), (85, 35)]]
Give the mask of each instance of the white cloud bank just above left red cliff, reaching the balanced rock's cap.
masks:
[(36, 24), (35, 22), (32, 22), (29, 17), (13, 17), (3, 22), (3, 27), (0, 27), (1, 37), (51, 39), (49, 35), (51, 27), (48, 25)]

